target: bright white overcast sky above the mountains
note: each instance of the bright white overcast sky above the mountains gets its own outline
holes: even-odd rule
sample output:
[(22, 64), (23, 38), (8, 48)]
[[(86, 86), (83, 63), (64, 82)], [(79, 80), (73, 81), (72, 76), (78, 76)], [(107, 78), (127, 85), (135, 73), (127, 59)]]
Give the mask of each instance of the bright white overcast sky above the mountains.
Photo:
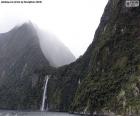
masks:
[(53, 33), (79, 57), (92, 42), (107, 1), (43, 0), (42, 4), (0, 3), (0, 33), (31, 20), (39, 28)]

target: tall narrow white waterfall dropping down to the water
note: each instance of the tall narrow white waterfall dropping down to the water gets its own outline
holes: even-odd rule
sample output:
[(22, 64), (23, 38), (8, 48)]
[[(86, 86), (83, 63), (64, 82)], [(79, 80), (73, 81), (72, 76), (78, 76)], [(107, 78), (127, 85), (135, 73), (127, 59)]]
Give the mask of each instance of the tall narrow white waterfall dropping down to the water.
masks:
[(42, 97), (42, 105), (41, 105), (41, 111), (44, 111), (45, 108), (45, 100), (47, 99), (46, 93), (47, 93), (47, 84), (48, 84), (49, 76), (45, 76), (45, 86), (44, 86), (44, 92)]

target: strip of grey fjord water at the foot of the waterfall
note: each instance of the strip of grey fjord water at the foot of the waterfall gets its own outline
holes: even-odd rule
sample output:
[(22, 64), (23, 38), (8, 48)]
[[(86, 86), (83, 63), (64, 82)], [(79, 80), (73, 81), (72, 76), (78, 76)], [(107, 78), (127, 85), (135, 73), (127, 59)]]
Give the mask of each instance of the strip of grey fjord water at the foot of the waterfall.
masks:
[(78, 116), (68, 113), (58, 112), (17, 112), (17, 111), (0, 111), (0, 116)]

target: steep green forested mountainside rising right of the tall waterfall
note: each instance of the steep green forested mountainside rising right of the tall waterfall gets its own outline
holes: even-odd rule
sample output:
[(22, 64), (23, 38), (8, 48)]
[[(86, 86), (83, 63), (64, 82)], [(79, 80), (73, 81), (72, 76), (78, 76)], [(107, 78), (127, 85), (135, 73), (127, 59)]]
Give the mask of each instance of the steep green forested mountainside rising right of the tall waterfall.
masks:
[(53, 111), (140, 115), (140, 7), (109, 0), (85, 54), (48, 82)]

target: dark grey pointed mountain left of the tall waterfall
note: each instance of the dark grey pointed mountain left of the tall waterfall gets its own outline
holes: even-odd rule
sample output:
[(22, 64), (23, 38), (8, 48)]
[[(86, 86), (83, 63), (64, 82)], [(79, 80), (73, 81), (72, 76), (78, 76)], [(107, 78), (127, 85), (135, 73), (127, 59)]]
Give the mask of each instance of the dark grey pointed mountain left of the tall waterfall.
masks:
[[(0, 108), (39, 107), (37, 100), (41, 96), (36, 92), (36, 85), (41, 82), (36, 71), (49, 66), (49, 62), (32, 25), (23, 24), (1, 34), (0, 54)], [(31, 103), (27, 105), (28, 101)]]

